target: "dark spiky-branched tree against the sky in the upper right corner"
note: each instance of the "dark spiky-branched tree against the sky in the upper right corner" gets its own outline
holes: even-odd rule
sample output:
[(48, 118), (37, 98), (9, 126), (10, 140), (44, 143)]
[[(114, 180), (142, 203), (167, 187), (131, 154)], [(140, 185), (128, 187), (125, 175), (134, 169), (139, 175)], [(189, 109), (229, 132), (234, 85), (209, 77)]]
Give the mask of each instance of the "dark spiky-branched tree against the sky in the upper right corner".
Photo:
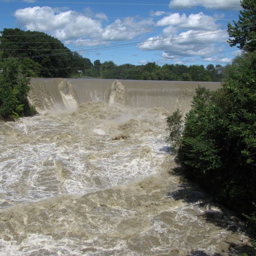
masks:
[(256, 2), (255, 0), (240, 1), (243, 11), (240, 11), (239, 20), (233, 20), (234, 26), (228, 22), (227, 32), (231, 38), (227, 40), (229, 45), (244, 50), (253, 52), (256, 50)]

